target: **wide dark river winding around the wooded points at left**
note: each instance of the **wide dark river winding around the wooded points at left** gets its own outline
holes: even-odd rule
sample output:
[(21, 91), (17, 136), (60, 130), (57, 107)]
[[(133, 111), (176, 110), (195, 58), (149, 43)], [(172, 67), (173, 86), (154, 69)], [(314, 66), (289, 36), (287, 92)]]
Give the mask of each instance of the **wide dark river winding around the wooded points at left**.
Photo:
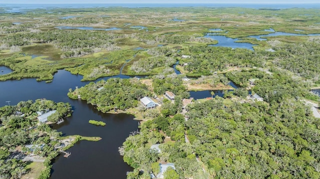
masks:
[[(118, 77), (128, 78), (125, 75)], [(110, 77), (105, 77), (107, 79)], [(68, 102), (74, 112), (60, 125), (53, 128), (66, 135), (98, 136), (98, 142), (81, 141), (67, 150), (71, 156), (66, 159), (60, 155), (53, 163), (50, 179), (125, 179), (125, 173), (132, 171), (117, 152), (131, 131), (137, 130), (137, 121), (132, 115), (104, 114), (98, 112), (85, 101), (71, 100), (67, 97), (69, 88), (81, 87), (89, 82), (81, 82), (81, 75), (72, 75), (58, 70), (51, 83), (36, 81), (34, 78), (7, 80), (0, 82), (0, 106), (16, 105), (19, 101), (46, 98), (55, 102)], [(99, 79), (100, 80), (100, 79)], [(106, 126), (94, 126), (88, 120), (98, 120)]]

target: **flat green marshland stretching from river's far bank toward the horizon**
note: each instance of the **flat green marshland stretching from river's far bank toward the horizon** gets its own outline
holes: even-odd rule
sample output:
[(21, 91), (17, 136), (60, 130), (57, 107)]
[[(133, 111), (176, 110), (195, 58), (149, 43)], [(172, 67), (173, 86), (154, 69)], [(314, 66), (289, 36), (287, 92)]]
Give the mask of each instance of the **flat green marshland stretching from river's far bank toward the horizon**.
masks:
[[(13, 70), (10, 74), (0, 75), (0, 80), (32, 77), (49, 82), (58, 69), (67, 69), (72, 74), (83, 75), (82, 80), (95, 80), (119, 74), (121, 66), (129, 59), (124, 65), (123, 74), (169, 74), (172, 72), (169, 66), (179, 60), (181, 54), (188, 54), (191, 58), (180, 59), (180, 64), (187, 62), (189, 65), (179, 67), (188, 76), (209, 75), (214, 71), (224, 71), (230, 66), (264, 67), (268, 60), (273, 60), (271, 62), (276, 65), (290, 68), (303, 77), (317, 81), (317, 69), (304, 69), (303, 65), (299, 65), (302, 61), (308, 64), (317, 63), (315, 57), (319, 51), (318, 47), (310, 43), (304, 44), (306, 41), (318, 43), (317, 37), (277, 36), (267, 37), (267, 41), (246, 38), (249, 35), (268, 34), (270, 32), (263, 29), (270, 27), (281, 32), (318, 33), (317, 23), (320, 17), (312, 8), (280, 9), (276, 11), (276, 15), (272, 10), (239, 7), (51, 10), (52, 13), (48, 14), (43, 9), (32, 9), (30, 13), (14, 14), (14, 20), (10, 13), (0, 14), (0, 65), (6, 65)], [(68, 15), (74, 17), (59, 19)], [(35, 18), (39, 16), (41, 18)], [(184, 21), (172, 21), (177, 16)], [(22, 23), (12, 24), (16, 21)], [(132, 25), (143, 25), (148, 30), (130, 28)], [(60, 30), (55, 28), (57, 26), (120, 29)], [(221, 35), (257, 44), (254, 46), (255, 51), (208, 47), (208, 44), (215, 44), (216, 41), (201, 36), (210, 32), (210, 28), (220, 28)], [(285, 44), (281, 44), (283, 42)], [(301, 46), (286, 44), (297, 42), (302, 43)], [(158, 44), (165, 46), (157, 47)], [(137, 47), (142, 47), (145, 51), (135, 50)], [(286, 60), (279, 61), (272, 57), (276, 55), (265, 52), (265, 49), (270, 47), (276, 49), (276, 53), (283, 53), (282, 57), (286, 57)], [(302, 48), (299, 50), (301, 52), (289, 55), (283, 52), (287, 49), (288, 53), (297, 47)], [(300, 53), (308, 53), (307, 58), (291, 59)], [(288, 60), (297, 59), (294, 67), (288, 65)]]

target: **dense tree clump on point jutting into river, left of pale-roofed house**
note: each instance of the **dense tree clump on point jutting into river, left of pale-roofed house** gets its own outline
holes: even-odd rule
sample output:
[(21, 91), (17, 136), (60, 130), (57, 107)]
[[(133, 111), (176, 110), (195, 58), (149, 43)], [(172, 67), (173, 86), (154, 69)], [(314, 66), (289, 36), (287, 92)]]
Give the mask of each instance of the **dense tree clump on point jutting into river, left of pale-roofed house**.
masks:
[(147, 94), (147, 86), (136, 78), (110, 78), (107, 81), (91, 82), (74, 91), (70, 89), (68, 97), (77, 99), (77, 95), (80, 95), (87, 103), (96, 105), (99, 111), (109, 112), (113, 109), (125, 110), (135, 107), (141, 96)]

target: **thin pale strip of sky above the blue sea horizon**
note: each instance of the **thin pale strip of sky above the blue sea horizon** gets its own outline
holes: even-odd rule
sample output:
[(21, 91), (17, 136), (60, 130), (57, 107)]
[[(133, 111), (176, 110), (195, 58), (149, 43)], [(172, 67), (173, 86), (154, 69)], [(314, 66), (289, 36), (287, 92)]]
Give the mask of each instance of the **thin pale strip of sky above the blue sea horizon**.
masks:
[(320, 0), (0, 0), (0, 3), (318, 3)]

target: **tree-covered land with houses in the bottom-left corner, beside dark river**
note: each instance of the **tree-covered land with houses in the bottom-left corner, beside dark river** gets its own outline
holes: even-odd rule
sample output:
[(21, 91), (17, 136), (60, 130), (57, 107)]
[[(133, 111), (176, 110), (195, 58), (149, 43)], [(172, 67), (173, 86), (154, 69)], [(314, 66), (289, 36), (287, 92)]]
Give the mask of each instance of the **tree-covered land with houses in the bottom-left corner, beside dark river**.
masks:
[[(31, 153), (46, 158), (39, 178), (50, 176), (51, 160), (58, 155), (56, 148), (61, 145), (59, 139), (62, 134), (38, 122), (37, 112), (46, 110), (56, 110), (49, 116), (48, 120), (52, 122), (71, 115), (69, 104), (45, 99), (21, 101), (16, 106), (0, 108), (1, 179), (19, 179), (25, 175), (29, 164), (20, 157)], [(27, 148), (26, 145), (33, 147)]]

